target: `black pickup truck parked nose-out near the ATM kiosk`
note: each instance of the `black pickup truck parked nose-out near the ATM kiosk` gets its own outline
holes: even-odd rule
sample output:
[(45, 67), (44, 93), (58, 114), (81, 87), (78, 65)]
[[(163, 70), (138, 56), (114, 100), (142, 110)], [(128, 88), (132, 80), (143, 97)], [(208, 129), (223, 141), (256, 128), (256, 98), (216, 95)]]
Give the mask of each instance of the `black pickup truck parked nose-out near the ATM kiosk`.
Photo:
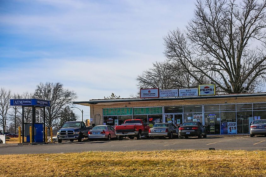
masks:
[(62, 140), (77, 140), (81, 142), (82, 138), (88, 137), (88, 131), (92, 129), (92, 126), (86, 127), (82, 121), (70, 121), (66, 122), (60, 130), (57, 131), (58, 142)]

